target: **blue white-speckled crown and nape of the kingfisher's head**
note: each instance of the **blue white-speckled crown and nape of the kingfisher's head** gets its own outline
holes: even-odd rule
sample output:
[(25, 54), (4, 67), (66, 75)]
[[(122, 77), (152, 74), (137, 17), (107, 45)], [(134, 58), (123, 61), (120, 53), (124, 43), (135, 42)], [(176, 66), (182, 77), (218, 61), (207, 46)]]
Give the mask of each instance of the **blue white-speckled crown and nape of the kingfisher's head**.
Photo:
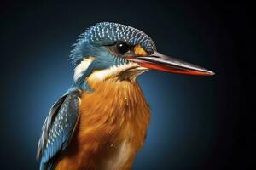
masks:
[(112, 45), (115, 42), (126, 42), (129, 45), (140, 44), (148, 51), (155, 49), (153, 40), (143, 31), (139, 31), (131, 26), (125, 26), (112, 22), (101, 22), (95, 26), (90, 26), (80, 35), (74, 44), (74, 49), (70, 55), (73, 65), (87, 56), (101, 56), (102, 46)]

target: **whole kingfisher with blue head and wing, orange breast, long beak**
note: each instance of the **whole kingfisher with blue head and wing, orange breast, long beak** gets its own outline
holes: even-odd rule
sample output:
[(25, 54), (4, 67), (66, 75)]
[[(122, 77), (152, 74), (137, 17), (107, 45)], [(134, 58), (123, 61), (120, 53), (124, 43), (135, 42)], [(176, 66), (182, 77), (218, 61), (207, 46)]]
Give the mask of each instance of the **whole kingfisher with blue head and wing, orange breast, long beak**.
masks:
[(150, 121), (136, 77), (151, 69), (214, 74), (160, 54), (143, 31), (113, 22), (86, 29), (69, 59), (73, 84), (44, 121), (37, 152), (40, 170), (131, 169)]

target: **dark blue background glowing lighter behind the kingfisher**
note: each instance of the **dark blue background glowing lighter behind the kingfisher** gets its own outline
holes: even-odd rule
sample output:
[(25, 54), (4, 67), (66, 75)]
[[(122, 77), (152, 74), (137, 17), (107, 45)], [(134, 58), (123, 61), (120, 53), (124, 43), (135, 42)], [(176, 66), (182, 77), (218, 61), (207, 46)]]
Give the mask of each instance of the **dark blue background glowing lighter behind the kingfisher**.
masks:
[(100, 21), (134, 26), (152, 37), (161, 53), (216, 73), (193, 77), (148, 71), (138, 77), (152, 121), (134, 169), (247, 165), (239, 133), (244, 4), (3, 1), (0, 9), (3, 169), (38, 168), (35, 155), (44, 118), (73, 81), (67, 61), (71, 45)]

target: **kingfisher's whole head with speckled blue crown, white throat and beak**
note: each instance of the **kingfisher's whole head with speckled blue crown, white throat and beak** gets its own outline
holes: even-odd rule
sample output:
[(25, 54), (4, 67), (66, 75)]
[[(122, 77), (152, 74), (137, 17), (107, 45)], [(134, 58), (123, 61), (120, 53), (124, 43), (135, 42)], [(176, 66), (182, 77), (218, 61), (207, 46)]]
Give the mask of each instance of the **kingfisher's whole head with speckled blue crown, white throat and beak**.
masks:
[(157, 52), (153, 40), (131, 26), (102, 22), (90, 26), (75, 42), (70, 55), (74, 80), (135, 80), (149, 69), (210, 76), (214, 73), (197, 65)]

